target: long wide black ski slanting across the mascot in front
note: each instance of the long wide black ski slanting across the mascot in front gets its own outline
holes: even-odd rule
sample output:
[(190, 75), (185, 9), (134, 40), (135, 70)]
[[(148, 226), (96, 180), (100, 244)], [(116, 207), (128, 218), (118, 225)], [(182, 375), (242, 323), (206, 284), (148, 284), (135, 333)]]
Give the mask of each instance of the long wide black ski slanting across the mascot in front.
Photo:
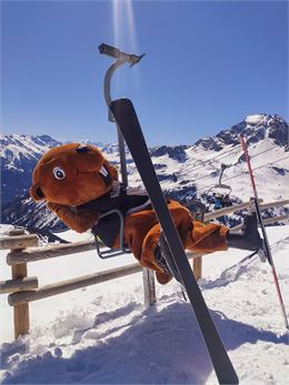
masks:
[(198, 283), (191, 272), (182, 243), (167, 207), (133, 104), (129, 99), (119, 99), (111, 102), (110, 109), (150, 196), (173, 256), (175, 264), (195, 311), (218, 381), (220, 384), (238, 384), (238, 376), (222, 345)]

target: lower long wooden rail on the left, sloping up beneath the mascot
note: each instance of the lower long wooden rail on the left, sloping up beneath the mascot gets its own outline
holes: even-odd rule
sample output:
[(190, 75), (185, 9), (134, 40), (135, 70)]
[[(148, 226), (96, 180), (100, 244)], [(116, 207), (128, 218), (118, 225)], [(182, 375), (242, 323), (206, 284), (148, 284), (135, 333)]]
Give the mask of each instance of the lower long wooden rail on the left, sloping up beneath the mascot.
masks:
[(138, 263), (128, 266), (110, 269), (104, 272), (83, 275), (77, 278), (58, 282), (51, 285), (42, 286), (36, 291), (12, 293), (8, 296), (9, 305), (20, 305), (37, 300), (47, 298), (52, 295), (71, 292), (89, 285), (94, 285), (101, 282), (120, 278), (126, 275), (139, 273), (142, 271), (141, 265)]

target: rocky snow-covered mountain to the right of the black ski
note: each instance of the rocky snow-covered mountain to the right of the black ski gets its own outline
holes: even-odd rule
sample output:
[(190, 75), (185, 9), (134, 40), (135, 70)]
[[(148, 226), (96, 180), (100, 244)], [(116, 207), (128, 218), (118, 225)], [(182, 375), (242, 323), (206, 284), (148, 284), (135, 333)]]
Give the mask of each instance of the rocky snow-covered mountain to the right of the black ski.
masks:
[[(153, 161), (161, 164), (158, 173), (162, 188), (179, 192), (179, 199), (191, 199), (195, 190), (198, 197), (201, 197), (218, 184), (223, 163), (229, 168), (221, 182), (232, 188), (231, 195), (240, 200), (251, 196), (239, 143), (240, 134), (248, 140), (262, 197), (276, 200), (283, 196), (289, 184), (288, 123), (278, 115), (266, 114), (247, 116), (216, 136), (200, 139), (191, 146), (177, 148), (177, 160), (169, 152), (156, 159), (152, 152)], [(191, 194), (186, 191), (189, 186), (192, 189)]]

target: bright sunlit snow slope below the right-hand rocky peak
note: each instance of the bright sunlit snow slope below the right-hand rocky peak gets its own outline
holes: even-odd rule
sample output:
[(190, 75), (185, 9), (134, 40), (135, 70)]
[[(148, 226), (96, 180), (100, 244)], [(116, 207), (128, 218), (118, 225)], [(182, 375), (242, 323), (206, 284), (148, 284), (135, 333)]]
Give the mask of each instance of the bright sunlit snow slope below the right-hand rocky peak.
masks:
[[(210, 188), (218, 183), (221, 163), (225, 163), (231, 165), (226, 169), (222, 178), (222, 183), (232, 188), (231, 196), (238, 195), (238, 199), (242, 201), (247, 201), (252, 196), (247, 164), (239, 162), (242, 155), (240, 148), (233, 146), (230, 149), (227, 146), (219, 151), (217, 155), (216, 151), (205, 151), (201, 148), (191, 148), (187, 152), (189, 155), (188, 161), (185, 164), (176, 163), (175, 168), (170, 166), (169, 170), (170, 173), (176, 173), (180, 180), (196, 182), (198, 195), (208, 192)], [(289, 185), (289, 172), (287, 171), (289, 170), (289, 158), (285, 149), (277, 146), (272, 139), (266, 138), (257, 144), (250, 144), (249, 153), (256, 184), (258, 191), (261, 192), (260, 197), (266, 202), (287, 199), (288, 194), (285, 186)], [(273, 166), (285, 169), (285, 174), (279, 175)], [(165, 188), (163, 184), (161, 185)], [(173, 188), (176, 189), (171, 183), (170, 189), (173, 190)]]

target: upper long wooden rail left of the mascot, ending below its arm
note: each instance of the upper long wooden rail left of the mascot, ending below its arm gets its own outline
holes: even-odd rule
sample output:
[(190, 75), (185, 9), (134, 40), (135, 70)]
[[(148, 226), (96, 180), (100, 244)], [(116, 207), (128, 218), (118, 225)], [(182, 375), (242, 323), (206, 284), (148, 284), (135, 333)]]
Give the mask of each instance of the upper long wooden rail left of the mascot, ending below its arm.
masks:
[(94, 249), (97, 249), (94, 240), (42, 247), (29, 247), (22, 252), (8, 253), (7, 263), (12, 266), (19, 263), (49, 260), (56, 256), (82, 253)]

